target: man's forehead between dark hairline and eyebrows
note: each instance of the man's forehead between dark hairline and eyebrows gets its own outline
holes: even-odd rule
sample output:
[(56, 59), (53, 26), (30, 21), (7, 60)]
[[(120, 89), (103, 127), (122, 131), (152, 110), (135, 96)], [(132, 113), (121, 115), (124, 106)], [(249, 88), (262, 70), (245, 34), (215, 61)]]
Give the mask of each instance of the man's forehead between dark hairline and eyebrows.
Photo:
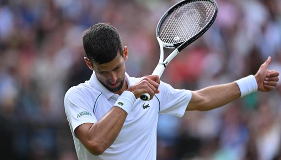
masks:
[(124, 58), (120, 55), (120, 53), (117, 53), (116, 57), (112, 61), (104, 64), (93, 63), (93, 66), (97, 71), (111, 71), (117, 66), (123, 64), (123, 62)]

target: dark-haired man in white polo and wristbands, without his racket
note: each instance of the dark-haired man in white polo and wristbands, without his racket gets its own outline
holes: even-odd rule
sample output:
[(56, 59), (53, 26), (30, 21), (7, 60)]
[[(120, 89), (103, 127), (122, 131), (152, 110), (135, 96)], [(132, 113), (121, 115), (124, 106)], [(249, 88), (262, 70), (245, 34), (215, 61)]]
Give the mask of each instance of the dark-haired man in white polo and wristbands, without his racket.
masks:
[[(269, 57), (255, 76), (198, 91), (173, 89), (156, 75), (129, 77), (127, 47), (108, 24), (96, 24), (83, 34), (90, 80), (70, 88), (65, 112), (79, 160), (156, 160), (159, 113), (182, 117), (185, 111), (208, 111), (257, 90), (268, 92), (279, 80), (267, 70)], [(148, 93), (150, 101), (139, 97)]]

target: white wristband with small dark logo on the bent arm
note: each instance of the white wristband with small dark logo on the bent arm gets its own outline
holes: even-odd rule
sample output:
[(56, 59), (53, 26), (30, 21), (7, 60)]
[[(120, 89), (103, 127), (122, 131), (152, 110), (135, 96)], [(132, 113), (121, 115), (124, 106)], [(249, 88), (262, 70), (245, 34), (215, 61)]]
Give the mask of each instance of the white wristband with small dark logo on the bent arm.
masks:
[(122, 108), (127, 114), (133, 109), (133, 104), (136, 101), (135, 95), (130, 91), (124, 91), (116, 100), (114, 106)]

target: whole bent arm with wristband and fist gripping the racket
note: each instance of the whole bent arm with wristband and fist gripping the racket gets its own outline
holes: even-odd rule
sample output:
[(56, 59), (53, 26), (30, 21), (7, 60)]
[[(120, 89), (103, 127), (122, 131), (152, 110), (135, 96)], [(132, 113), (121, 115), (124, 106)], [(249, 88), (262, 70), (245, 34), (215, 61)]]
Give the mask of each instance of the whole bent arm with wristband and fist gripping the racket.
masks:
[(119, 135), (127, 113), (133, 109), (133, 103), (144, 93), (151, 97), (159, 93), (158, 76), (145, 76), (138, 83), (130, 86), (117, 99), (114, 106), (98, 122), (84, 123), (75, 129), (75, 134), (81, 143), (94, 155), (101, 155)]

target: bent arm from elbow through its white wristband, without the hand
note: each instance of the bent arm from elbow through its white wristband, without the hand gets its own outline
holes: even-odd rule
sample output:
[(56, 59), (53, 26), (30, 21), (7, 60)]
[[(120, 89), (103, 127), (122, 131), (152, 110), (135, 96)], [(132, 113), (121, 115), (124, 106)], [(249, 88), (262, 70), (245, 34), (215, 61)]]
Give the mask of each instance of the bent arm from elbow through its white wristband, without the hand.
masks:
[(117, 138), (135, 101), (132, 92), (124, 91), (111, 110), (97, 123), (83, 124), (76, 129), (78, 139), (94, 155), (102, 154)]

